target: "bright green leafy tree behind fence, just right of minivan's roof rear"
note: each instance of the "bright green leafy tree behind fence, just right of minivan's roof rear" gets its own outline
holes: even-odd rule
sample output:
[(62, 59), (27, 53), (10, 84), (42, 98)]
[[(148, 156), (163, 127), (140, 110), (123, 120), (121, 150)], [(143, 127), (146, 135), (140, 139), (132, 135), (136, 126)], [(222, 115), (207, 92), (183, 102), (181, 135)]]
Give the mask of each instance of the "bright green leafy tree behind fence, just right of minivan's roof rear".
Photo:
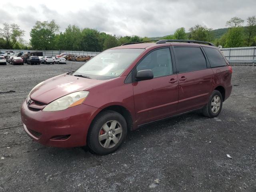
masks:
[(225, 48), (240, 47), (243, 43), (243, 30), (241, 27), (229, 28), (226, 36)]

